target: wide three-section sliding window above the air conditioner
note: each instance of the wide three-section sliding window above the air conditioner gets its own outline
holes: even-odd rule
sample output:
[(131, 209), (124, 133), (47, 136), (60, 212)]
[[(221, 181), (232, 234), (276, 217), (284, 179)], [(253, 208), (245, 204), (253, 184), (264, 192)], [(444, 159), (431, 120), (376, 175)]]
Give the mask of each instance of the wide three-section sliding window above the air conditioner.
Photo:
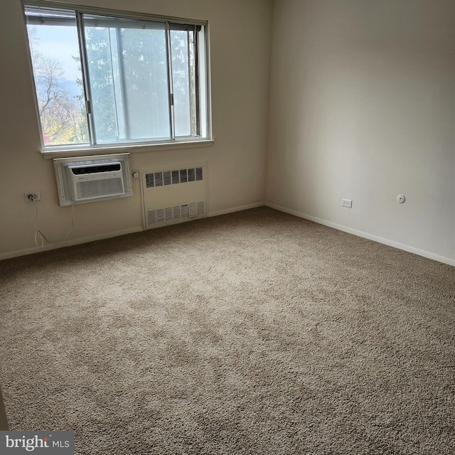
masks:
[(207, 23), (24, 6), (45, 150), (210, 139)]

